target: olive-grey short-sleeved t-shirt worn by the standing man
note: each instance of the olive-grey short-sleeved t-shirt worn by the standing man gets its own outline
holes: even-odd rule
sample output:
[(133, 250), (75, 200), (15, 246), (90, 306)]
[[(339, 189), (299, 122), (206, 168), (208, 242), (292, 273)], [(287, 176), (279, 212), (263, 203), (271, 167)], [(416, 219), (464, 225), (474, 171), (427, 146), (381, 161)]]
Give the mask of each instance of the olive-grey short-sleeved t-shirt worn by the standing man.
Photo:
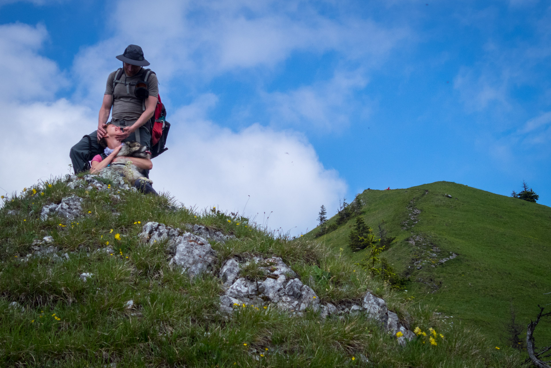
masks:
[[(122, 73), (122, 83), (115, 84), (115, 93), (113, 93), (113, 79), (117, 71), (112, 72), (107, 77), (107, 85), (105, 86), (105, 94), (113, 95), (113, 110), (111, 111), (111, 120), (127, 120), (136, 121), (143, 113), (143, 100), (134, 96), (134, 88), (136, 88), (136, 82), (142, 79), (142, 70), (136, 73), (133, 77), (127, 77), (126, 73)], [(158, 97), (159, 86), (157, 82), (157, 76), (153, 73), (149, 74), (147, 80), (149, 82), (149, 95)], [(134, 84), (128, 86), (128, 92), (126, 85), (134, 82)]]

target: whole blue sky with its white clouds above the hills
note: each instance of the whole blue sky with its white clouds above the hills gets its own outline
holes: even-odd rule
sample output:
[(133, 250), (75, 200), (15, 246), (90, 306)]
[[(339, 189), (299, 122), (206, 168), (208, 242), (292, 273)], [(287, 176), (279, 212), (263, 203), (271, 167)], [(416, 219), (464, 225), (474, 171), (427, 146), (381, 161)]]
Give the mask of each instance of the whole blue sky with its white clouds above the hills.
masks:
[(173, 124), (154, 186), (186, 205), (249, 200), (293, 233), (321, 204), (437, 180), (525, 179), (551, 205), (550, 41), (544, 1), (0, 0), (3, 153), (27, 163), (0, 186), (68, 172), (133, 43)]

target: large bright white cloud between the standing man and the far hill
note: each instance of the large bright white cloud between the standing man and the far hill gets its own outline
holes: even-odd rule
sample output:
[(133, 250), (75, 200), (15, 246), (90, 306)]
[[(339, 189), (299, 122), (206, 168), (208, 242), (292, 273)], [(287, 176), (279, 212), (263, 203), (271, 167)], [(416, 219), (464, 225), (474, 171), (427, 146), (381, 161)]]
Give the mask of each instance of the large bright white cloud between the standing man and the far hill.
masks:
[(259, 125), (221, 129), (204, 119), (213, 103), (206, 95), (173, 115), (169, 151), (154, 160), (155, 188), (199, 208), (242, 212), (249, 200), (245, 215), (262, 222), (273, 211), (268, 226), (292, 234), (315, 227), (322, 204), (337, 207), (346, 185), (304, 137)]

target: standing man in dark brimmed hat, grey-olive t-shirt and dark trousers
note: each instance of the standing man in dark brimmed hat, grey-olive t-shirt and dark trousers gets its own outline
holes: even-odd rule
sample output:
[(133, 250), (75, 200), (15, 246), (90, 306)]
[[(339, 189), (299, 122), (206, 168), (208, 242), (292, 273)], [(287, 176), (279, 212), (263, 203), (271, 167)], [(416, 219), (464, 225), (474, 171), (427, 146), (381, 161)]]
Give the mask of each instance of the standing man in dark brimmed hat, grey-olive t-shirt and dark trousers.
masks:
[[(98, 130), (85, 135), (69, 153), (75, 174), (88, 170), (89, 161), (96, 154), (104, 152), (99, 140), (106, 134), (110, 112), (110, 123), (121, 127), (116, 135), (117, 140), (136, 141), (142, 146), (151, 147), (150, 119), (155, 112), (159, 95), (157, 76), (155, 72), (143, 68), (148, 66), (149, 62), (143, 56), (142, 47), (128, 45), (125, 52), (116, 58), (122, 61), (122, 68), (107, 77)], [(148, 170), (146, 176), (147, 173)]]

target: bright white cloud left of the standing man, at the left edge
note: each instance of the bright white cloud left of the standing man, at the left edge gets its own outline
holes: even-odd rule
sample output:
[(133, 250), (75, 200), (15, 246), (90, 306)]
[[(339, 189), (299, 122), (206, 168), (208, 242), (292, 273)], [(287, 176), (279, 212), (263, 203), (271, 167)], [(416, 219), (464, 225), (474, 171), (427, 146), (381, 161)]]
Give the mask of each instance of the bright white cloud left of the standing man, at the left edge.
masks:
[(2, 103), (0, 186), (8, 193), (69, 173), (69, 149), (96, 125), (90, 110), (61, 99), (53, 103)]

